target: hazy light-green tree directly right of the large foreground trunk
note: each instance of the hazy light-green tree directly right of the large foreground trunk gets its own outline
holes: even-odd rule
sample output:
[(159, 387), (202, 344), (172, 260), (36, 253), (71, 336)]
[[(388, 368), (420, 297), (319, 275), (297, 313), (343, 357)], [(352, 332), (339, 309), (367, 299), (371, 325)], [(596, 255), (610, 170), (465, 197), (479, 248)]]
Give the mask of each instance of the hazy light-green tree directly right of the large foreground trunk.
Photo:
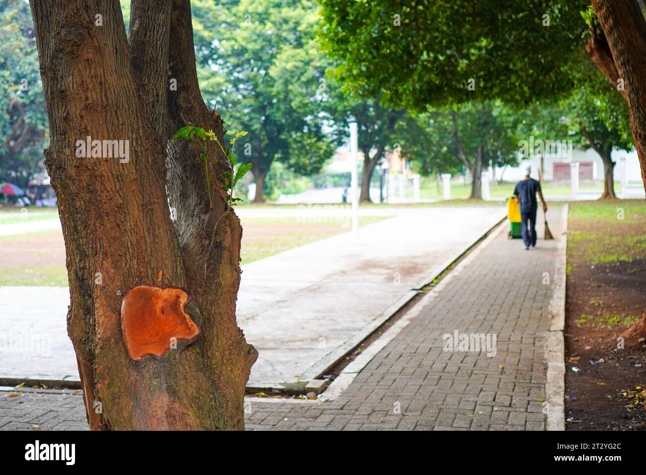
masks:
[(316, 3), (200, 0), (193, 12), (203, 94), (229, 129), (249, 131), (239, 160), (254, 164), (254, 201), (264, 201), (274, 161), (318, 173), (334, 150), (320, 114), (325, 67)]

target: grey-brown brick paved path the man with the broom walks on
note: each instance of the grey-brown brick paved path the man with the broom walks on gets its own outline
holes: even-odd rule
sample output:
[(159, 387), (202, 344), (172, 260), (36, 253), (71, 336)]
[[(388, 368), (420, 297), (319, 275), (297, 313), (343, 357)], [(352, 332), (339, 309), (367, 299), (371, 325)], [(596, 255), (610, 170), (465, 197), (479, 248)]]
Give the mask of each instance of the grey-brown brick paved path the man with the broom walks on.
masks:
[[(555, 236), (562, 232), (557, 216), (550, 211)], [(499, 234), (452, 272), (337, 399), (252, 401), (247, 429), (543, 430), (556, 248), (539, 240), (525, 251)], [(443, 335), (455, 330), (497, 334), (497, 354), (444, 352)], [(78, 394), (8, 394), (0, 392), (0, 430), (87, 427)]]

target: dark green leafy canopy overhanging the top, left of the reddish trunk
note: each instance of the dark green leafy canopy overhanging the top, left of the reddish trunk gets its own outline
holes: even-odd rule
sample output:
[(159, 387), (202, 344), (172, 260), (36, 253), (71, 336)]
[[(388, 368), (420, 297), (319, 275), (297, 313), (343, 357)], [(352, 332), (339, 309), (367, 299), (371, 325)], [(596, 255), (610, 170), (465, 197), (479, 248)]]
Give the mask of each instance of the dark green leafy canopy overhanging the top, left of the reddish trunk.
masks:
[(572, 86), (584, 0), (322, 0), (324, 45), (346, 89), (425, 111), (494, 98), (553, 98)]

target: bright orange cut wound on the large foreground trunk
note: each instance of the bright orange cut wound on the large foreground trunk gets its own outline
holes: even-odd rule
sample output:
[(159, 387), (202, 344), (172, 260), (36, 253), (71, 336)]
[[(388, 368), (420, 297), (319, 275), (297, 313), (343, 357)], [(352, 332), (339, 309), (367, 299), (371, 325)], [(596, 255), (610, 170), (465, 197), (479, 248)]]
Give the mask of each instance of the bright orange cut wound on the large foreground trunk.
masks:
[(138, 286), (121, 302), (121, 328), (131, 359), (161, 356), (200, 330), (184, 310), (189, 295), (176, 287)]

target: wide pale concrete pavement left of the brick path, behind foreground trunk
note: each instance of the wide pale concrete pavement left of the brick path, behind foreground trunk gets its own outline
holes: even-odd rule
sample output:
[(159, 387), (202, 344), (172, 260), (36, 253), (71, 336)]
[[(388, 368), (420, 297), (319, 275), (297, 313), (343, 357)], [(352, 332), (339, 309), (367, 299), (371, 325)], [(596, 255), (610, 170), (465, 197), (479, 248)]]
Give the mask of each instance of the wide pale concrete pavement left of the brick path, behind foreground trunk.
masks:
[[(349, 207), (261, 211), (349, 224)], [(358, 238), (347, 232), (242, 266), (238, 324), (260, 353), (249, 388), (315, 379), (505, 216), (500, 205), (362, 210), (386, 211), (395, 216)], [(255, 212), (241, 209), (243, 226)], [(0, 287), (0, 315), (21, 315), (0, 318), (0, 377), (78, 380), (68, 299), (63, 287)]]

